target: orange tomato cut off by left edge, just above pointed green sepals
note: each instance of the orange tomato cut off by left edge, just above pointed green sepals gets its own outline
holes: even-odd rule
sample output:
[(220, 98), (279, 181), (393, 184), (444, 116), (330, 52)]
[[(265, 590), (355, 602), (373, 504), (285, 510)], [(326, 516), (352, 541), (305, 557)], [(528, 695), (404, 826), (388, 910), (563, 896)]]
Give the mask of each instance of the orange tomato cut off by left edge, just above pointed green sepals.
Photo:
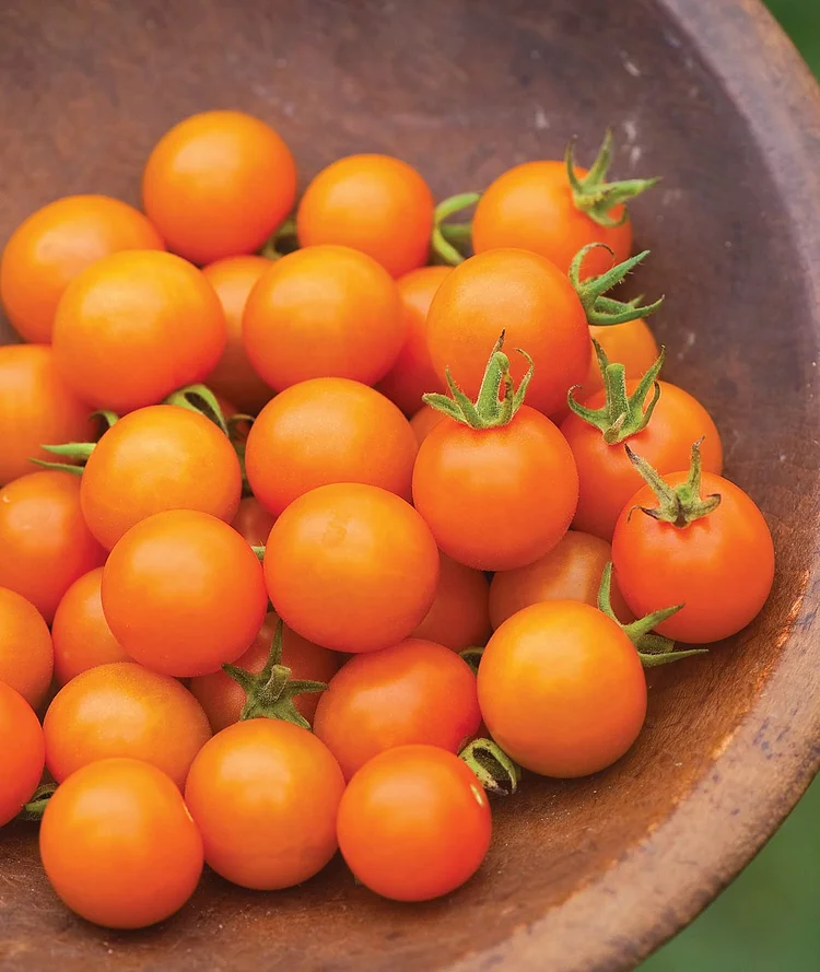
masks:
[(89, 412), (58, 374), (50, 348), (0, 348), (0, 484), (34, 472), (32, 459), (54, 459), (42, 445), (91, 440)]

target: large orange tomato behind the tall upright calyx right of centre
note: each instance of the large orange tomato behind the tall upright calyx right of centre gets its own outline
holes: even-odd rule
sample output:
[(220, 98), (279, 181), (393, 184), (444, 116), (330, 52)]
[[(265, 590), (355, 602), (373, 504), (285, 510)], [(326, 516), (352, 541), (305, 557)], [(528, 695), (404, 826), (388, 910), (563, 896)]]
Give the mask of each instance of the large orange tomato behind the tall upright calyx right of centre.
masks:
[[(562, 414), (567, 390), (584, 380), (591, 356), (586, 315), (563, 271), (523, 249), (489, 250), (456, 267), (427, 315), (427, 348), (437, 374), (449, 368), (475, 399), (488, 348), (502, 328), (508, 348), (532, 355), (527, 402), (547, 415)], [(517, 383), (527, 363), (514, 354), (511, 368)]]

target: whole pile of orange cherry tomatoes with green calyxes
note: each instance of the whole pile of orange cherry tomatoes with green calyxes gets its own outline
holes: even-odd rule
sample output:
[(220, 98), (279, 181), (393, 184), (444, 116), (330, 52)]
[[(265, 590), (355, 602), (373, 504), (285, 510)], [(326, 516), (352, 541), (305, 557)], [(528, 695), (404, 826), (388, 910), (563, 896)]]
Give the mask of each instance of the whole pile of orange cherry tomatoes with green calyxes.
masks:
[(485, 791), (610, 765), (644, 667), (761, 609), (765, 522), (658, 377), (660, 302), (612, 293), (652, 180), (609, 155), (438, 206), (355, 155), (296, 201), (279, 136), (213, 112), (151, 152), (145, 214), (71, 197), (12, 234), (0, 824), (42, 817), (77, 913), (140, 927), (203, 860), (278, 889), (337, 848), (446, 893)]

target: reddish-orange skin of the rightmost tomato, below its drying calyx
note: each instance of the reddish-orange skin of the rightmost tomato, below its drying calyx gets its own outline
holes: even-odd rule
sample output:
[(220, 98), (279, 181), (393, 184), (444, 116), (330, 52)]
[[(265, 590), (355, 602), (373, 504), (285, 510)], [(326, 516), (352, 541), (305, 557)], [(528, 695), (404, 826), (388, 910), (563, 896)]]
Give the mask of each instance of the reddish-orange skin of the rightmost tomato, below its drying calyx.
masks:
[[(672, 472), (664, 480), (676, 487), (688, 476)], [(634, 506), (657, 506), (645, 487), (624, 507), (612, 538), (614, 576), (626, 604), (640, 616), (682, 604), (657, 630), (688, 644), (721, 641), (746, 628), (763, 608), (774, 578), (774, 547), (763, 514), (734, 483), (704, 472), (701, 495), (714, 493), (721, 494), (721, 505), (679, 529), (640, 510), (629, 515)]]

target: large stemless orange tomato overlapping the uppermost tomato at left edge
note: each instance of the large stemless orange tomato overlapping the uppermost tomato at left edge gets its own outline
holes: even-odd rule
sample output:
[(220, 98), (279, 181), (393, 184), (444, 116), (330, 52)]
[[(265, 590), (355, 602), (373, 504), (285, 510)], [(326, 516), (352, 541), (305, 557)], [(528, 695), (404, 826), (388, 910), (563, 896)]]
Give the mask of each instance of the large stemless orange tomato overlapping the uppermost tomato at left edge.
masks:
[(224, 348), (225, 315), (213, 288), (173, 254), (103, 257), (68, 285), (55, 318), (63, 380), (115, 412), (201, 382)]

